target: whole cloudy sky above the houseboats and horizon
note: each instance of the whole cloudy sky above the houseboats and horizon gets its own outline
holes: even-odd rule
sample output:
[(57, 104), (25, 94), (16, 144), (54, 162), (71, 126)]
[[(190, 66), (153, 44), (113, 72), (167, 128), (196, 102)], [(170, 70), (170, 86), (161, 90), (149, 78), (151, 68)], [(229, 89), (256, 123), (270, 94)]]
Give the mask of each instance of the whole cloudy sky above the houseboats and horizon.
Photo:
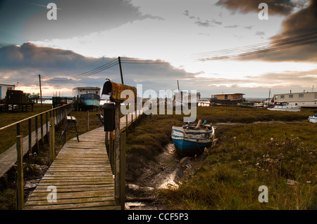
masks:
[[(54, 2), (57, 20), (44, 6)], [(268, 4), (260, 20), (259, 4)], [(120, 57), (169, 64), (123, 64), (125, 84), (143, 90), (272, 93), (317, 88), (317, 44), (221, 60), (202, 53), (261, 44), (317, 31), (317, 0), (4, 0), (0, 1), (0, 84), (44, 95), (76, 86), (120, 82), (118, 66), (69, 79)], [(52, 79), (58, 78), (58, 79)]]

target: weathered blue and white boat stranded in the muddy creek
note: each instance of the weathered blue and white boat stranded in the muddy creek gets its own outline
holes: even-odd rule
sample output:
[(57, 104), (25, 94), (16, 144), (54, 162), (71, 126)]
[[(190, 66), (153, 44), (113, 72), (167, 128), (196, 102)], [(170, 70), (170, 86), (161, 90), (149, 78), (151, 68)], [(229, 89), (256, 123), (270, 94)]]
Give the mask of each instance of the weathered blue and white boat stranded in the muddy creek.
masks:
[(215, 130), (211, 124), (187, 124), (172, 127), (172, 139), (181, 157), (204, 152), (213, 143)]

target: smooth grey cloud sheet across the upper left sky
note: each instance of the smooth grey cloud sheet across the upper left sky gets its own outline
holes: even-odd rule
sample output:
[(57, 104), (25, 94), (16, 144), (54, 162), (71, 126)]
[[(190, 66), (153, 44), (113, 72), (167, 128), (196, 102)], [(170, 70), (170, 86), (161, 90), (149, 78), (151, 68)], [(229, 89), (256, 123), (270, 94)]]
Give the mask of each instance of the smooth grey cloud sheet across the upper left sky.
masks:
[[(126, 0), (57, 0), (54, 3), (57, 8), (61, 8), (57, 11), (57, 20), (46, 18), (49, 10), (45, 7), (28, 4), (24, 0), (4, 1), (6, 8), (0, 10), (0, 19), (10, 22), (3, 24), (2, 29), (11, 31), (11, 25), (20, 27), (14, 32), (23, 36), (25, 41), (83, 36), (91, 32), (114, 29), (136, 20), (163, 20), (159, 16), (142, 13), (138, 7)], [(45, 0), (41, 3), (33, 1), (44, 6), (49, 2), (51, 1)], [(24, 8), (25, 12), (16, 8)], [(11, 11), (13, 14), (6, 11)], [(32, 13), (27, 13), (28, 11)], [(16, 20), (13, 16), (18, 16), (20, 20)]]

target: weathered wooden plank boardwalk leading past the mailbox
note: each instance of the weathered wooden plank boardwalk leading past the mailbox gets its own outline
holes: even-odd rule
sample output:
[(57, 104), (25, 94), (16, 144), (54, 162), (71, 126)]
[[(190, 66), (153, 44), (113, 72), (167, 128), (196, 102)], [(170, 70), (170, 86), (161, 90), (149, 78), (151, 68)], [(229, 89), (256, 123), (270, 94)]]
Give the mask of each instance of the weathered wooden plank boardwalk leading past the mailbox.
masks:
[[(133, 116), (133, 121), (138, 116)], [(131, 124), (128, 115), (128, 126)], [(125, 129), (126, 118), (120, 119)], [(68, 140), (23, 209), (121, 209), (114, 197), (114, 180), (106, 153), (104, 127)], [(56, 187), (56, 202), (49, 186)], [(50, 188), (49, 188), (50, 189)]]

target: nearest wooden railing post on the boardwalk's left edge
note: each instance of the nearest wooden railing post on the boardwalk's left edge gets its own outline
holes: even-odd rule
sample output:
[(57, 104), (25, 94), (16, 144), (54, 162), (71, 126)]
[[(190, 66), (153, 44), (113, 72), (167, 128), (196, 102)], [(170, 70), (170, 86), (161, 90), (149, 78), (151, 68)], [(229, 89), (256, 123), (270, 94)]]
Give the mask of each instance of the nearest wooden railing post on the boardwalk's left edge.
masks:
[(23, 209), (24, 204), (24, 185), (23, 185), (23, 136), (16, 136), (16, 152), (18, 159), (17, 167), (17, 208)]

